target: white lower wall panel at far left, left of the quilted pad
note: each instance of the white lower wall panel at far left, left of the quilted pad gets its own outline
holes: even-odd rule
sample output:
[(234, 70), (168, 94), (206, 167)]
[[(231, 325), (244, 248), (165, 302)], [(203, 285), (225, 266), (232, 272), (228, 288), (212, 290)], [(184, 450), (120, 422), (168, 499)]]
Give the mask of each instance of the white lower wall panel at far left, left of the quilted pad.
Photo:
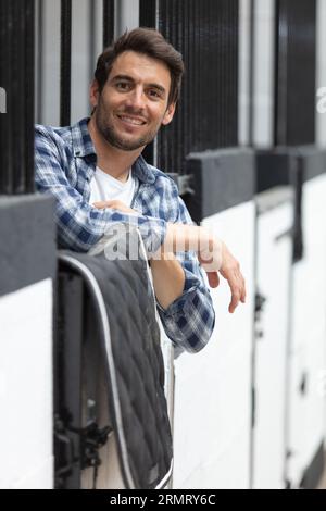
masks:
[(1, 297), (0, 324), (0, 488), (51, 488), (52, 281)]

